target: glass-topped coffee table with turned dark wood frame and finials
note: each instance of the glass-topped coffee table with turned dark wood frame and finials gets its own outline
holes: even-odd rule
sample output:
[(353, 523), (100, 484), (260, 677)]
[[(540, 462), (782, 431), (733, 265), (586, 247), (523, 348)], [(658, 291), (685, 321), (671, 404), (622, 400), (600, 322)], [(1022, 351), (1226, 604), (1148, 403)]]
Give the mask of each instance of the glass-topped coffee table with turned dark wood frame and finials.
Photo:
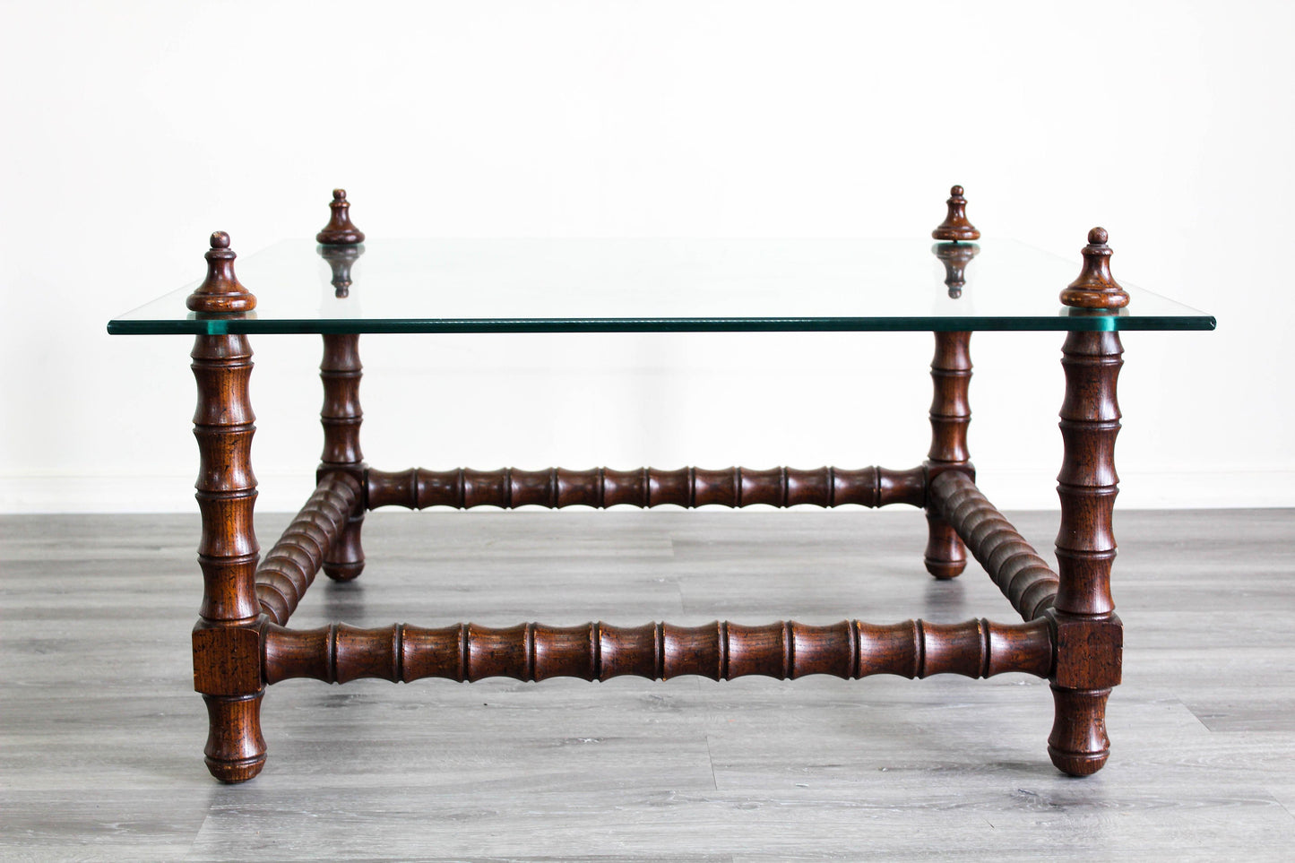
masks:
[[(193, 630), (193, 679), (207, 705), (206, 762), (216, 779), (241, 783), (260, 772), (262, 698), (267, 685), (289, 678), (346, 683), (695, 674), (726, 680), (752, 674), (855, 679), (1017, 671), (1052, 683), (1053, 763), (1075, 776), (1106, 763), (1106, 701), (1120, 682), (1121, 650), (1110, 590), (1120, 333), (1213, 329), (1215, 320), (1120, 286), (1111, 276), (1105, 231), (1089, 232), (1081, 266), (1015, 242), (982, 246), (974, 242), (979, 232), (966, 218), (960, 187), (932, 232), (934, 246), (923, 240), (364, 244), (343, 190), (334, 192), (330, 207), (315, 242), (286, 241), (240, 262), (250, 289), (234, 273), (228, 235), (216, 232), (201, 284), (107, 325), (118, 334), (196, 337), (203, 592)], [(934, 333), (926, 460), (901, 470), (385, 472), (369, 468), (361, 454), (361, 333), (724, 330)], [(1064, 332), (1055, 569), (975, 485), (967, 452), (974, 330)], [(273, 333), (322, 336), (324, 452), (313, 494), (260, 556), (253, 526), (249, 337)], [(287, 626), (320, 569), (339, 581), (364, 569), (360, 538), (370, 509), (616, 504), (918, 507), (930, 529), (926, 570), (938, 579), (954, 578), (970, 552), (1022, 622)]]

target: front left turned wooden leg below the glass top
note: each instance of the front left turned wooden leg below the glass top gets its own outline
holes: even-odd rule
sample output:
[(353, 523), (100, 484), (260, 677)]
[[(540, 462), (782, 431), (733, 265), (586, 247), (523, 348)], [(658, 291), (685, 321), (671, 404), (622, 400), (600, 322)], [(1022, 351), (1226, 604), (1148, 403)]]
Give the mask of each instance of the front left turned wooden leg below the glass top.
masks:
[[(210, 259), (210, 258), (208, 258)], [(218, 258), (220, 260), (220, 258)], [(247, 394), (251, 347), (246, 336), (198, 336), (193, 345), (198, 407), (198, 565), (203, 592), (193, 628), (193, 684), (207, 702), (207, 768), (225, 783), (260, 772), (260, 628), (253, 527), (256, 477), (251, 472), (255, 416)]]

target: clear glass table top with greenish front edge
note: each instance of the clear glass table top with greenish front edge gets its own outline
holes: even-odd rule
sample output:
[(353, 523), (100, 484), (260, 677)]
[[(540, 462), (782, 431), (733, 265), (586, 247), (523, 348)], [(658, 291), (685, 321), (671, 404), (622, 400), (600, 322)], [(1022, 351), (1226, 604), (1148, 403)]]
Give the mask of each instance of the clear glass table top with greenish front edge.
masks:
[[(974, 254), (973, 254), (974, 253)], [(205, 273), (196, 250), (196, 276)], [(1213, 329), (1131, 286), (1118, 311), (1061, 305), (1072, 260), (1019, 242), (930, 240), (287, 240), (234, 262), (241, 315), (185, 307), (197, 279), (110, 333)], [(347, 285), (346, 282), (350, 281)], [(344, 295), (343, 295), (344, 294)]]

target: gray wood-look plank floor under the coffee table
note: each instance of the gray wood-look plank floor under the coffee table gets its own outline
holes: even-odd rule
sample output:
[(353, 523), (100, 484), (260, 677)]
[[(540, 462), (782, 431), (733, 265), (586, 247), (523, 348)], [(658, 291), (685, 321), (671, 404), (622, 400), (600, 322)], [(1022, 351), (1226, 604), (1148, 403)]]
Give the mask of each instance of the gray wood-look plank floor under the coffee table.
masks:
[[(268, 547), (286, 514), (258, 525)], [(1018, 527), (1050, 549), (1055, 516)], [(196, 517), (0, 518), (0, 858), (1295, 858), (1295, 513), (1123, 512), (1112, 755), (1048, 762), (1046, 683), (443, 680), (265, 696), (221, 787), (190, 689)], [(913, 512), (374, 513), (294, 626), (1015, 619), (925, 575)]]

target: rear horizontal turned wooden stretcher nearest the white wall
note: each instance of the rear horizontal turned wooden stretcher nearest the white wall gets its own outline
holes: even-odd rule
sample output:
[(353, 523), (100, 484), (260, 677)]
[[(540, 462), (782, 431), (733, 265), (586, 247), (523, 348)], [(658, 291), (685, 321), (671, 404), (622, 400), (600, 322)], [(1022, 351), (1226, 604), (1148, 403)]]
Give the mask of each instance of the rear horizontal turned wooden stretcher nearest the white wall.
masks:
[(680, 468), (658, 470), (426, 470), (413, 468), (387, 473), (368, 472), (368, 505), (407, 507), (750, 507), (769, 504), (793, 507), (840, 507), (862, 504), (884, 507), (909, 504), (921, 507), (926, 499), (925, 472), (887, 470), (886, 468), (818, 468), (796, 470), (772, 468)]

